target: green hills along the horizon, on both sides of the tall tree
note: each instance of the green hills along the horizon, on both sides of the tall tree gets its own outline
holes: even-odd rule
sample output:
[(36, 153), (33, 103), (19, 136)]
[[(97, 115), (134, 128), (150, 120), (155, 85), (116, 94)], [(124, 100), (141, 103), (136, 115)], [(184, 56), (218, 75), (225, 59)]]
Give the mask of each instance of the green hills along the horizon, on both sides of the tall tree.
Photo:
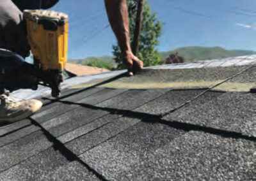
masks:
[[(221, 47), (182, 47), (168, 52), (159, 53), (164, 61), (166, 57), (175, 52), (178, 52), (180, 56), (184, 57), (185, 62), (223, 59), (227, 57), (256, 54), (256, 52), (250, 50), (226, 50)], [(111, 56), (87, 57), (86, 59), (69, 60), (69, 62), (110, 70), (115, 69), (116, 67), (115, 61), (113, 61), (113, 57)]]

